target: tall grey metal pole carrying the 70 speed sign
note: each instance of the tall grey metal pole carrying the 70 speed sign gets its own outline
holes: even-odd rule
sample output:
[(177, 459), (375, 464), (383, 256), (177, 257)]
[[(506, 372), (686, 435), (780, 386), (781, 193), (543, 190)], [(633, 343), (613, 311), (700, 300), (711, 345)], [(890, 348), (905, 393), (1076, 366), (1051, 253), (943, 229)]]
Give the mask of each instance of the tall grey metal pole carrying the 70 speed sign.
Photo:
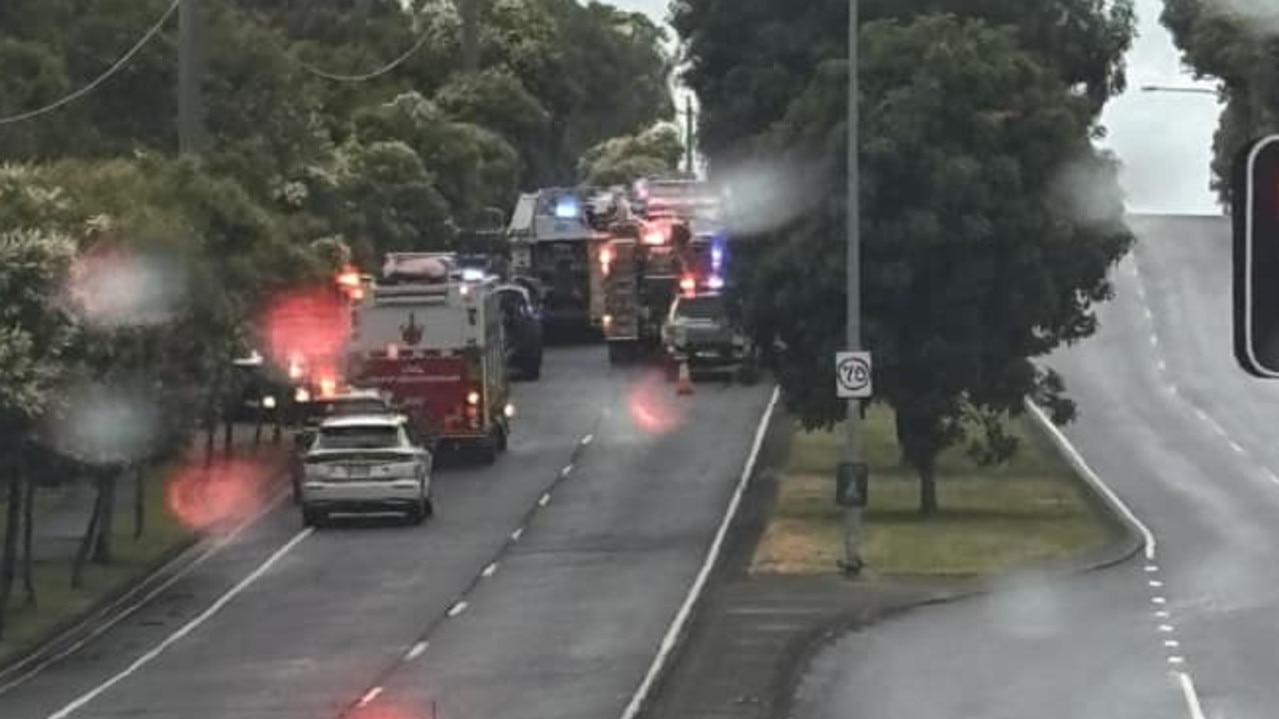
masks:
[[(848, 0), (848, 257), (847, 257), (847, 326), (845, 348), (862, 348), (862, 297), (861, 297), (861, 160), (858, 156), (858, 12), (859, 0)], [(857, 464), (862, 461), (862, 422), (861, 399), (849, 399), (845, 409), (844, 455), (845, 463)], [(862, 503), (844, 507), (844, 571), (857, 573), (861, 569)]]

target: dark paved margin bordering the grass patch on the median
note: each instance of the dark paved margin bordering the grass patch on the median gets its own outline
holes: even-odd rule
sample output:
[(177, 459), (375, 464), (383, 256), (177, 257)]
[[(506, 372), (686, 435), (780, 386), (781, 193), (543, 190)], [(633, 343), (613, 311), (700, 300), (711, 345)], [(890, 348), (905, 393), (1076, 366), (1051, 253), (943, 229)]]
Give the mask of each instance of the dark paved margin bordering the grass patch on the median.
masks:
[[(1032, 418), (1044, 421), (1031, 412)], [(859, 627), (923, 605), (989, 591), (991, 580), (858, 580), (751, 576), (748, 569), (787, 464), (790, 418), (774, 413), (726, 551), (692, 626), (643, 713), (648, 719), (771, 719), (787, 716), (796, 686), (822, 646)], [(1090, 502), (1114, 523), (1104, 546), (1036, 567), (1077, 573), (1119, 564), (1146, 546), (1129, 513), (1064, 435), (1050, 439), (1083, 477)]]

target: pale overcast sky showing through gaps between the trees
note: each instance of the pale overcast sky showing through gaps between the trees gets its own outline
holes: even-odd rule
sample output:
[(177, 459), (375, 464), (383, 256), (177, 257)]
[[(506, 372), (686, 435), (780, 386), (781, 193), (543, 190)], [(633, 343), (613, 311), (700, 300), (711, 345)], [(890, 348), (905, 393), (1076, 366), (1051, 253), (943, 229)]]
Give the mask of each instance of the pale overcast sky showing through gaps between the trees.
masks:
[[(661, 23), (668, 0), (614, 0)], [(1220, 105), (1211, 95), (1142, 91), (1143, 86), (1198, 87), (1159, 24), (1163, 0), (1137, 0), (1138, 36), (1128, 54), (1128, 91), (1106, 106), (1101, 145), (1123, 162), (1120, 182), (1132, 212), (1220, 214), (1209, 189), (1212, 132)], [(671, 31), (674, 36), (674, 31)], [(677, 91), (680, 106), (686, 91)]]

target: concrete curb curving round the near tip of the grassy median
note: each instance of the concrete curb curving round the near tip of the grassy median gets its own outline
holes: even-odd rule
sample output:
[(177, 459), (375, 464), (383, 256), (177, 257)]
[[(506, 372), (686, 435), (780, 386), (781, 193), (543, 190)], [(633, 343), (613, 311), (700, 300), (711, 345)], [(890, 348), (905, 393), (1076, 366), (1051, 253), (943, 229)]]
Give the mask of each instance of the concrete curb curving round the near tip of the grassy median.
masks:
[(1074, 450), (1065, 435), (1056, 429), (1056, 425), (1054, 425), (1044, 411), (1030, 399), (1024, 400), (1024, 406), (1027, 415), (1035, 420), (1035, 423), (1053, 443), (1058, 453), (1071, 464), (1071, 468), (1074, 470), (1076, 476), (1087, 490), (1088, 502), (1092, 503), (1094, 507), (1102, 510), (1101, 513), (1106, 518), (1106, 523), (1109, 523), (1119, 533), (1119, 536), (1108, 541), (1096, 550), (1088, 551), (1081, 557), (1055, 562), (1037, 562), (1022, 569), (1010, 569), (994, 577), (984, 577), (980, 580), (950, 580), (946, 581), (952, 585), (949, 589), (929, 592), (930, 596), (917, 601), (907, 601), (883, 612), (858, 614), (842, 613), (834, 615), (830, 620), (822, 622), (807, 632), (798, 635), (788, 645), (784, 652), (783, 665), (790, 667), (790, 669), (779, 672), (778, 678), (774, 682), (774, 701), (770, 702), (771, 716), (790, 716), (792, 702), (796, 692), (812, 664), (813, 656), (833, 641), (839, 640), (851, 632), (885, 619), (899, 617), (916, 609), (949, 604), (990, 594), (995, 589), (998, 581), (1007, 580), (1009, 576), (1019, 572), (1039, 572), (1053, 577), (1088, 574), (1123, 564), (1140, 554), (1142, 550), (1152, 550), (1152, 542), (1147, 541), (1149, 530), (1146, 530), (1136, 516), (1133, 516), (1132, 512), (1124, 507), (1117, 496), (1114, 496), (1109, 487), (1101, 482), (1097, 473), (1087, 466), (1082, 457), (1079, 457), (1078, 452)]

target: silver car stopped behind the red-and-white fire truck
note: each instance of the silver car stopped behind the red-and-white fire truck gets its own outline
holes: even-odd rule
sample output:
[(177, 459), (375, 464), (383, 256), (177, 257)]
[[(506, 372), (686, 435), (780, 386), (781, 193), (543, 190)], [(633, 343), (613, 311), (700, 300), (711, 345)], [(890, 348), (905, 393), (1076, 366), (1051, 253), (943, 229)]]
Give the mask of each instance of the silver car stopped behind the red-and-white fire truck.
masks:
[(302, 522), (333, 513), (396, 512), (421, 525), (434, 513), (434, 457), (403, 415), (325, 420), (302, 466)]

